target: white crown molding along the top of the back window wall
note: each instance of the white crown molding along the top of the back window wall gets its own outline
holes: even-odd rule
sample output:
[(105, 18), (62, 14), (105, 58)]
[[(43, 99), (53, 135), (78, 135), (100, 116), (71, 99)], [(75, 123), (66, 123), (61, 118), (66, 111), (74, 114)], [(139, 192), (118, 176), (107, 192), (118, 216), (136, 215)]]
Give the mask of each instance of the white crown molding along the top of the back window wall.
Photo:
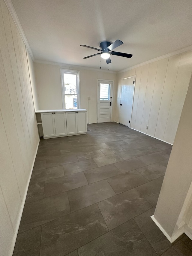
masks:
[(43, 60), (37, 60), (37, 59), (35, 59), (34, 62), (35, 63), (41, 63), (41, 64), (47, 64), (47, 65), (60, 66), (60, 67), (64, 67), (64, 68), (67, 68), (67, 69), (77, 68), (77, 69), (86, 69), (86, 70), (106, 72), (106, 73), (112, 73), (112, 74), (117, 74), (118, 73), (116, 71), (108, 71), (108, 70), (103, 70), (103, 69), (99, 69), (99, 68), (88, 68), (88, 67), (84, 67), (84, 66), (69, 65), (69, 64), (65, 64), (65, 63), (50, 62), (50, 61), (43, 61)]

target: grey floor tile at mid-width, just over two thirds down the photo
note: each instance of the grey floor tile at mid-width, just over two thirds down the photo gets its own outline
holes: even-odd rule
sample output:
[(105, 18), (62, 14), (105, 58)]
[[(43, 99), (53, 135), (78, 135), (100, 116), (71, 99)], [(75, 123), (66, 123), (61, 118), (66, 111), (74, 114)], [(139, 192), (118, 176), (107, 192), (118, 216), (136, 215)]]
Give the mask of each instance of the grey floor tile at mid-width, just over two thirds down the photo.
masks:
[(88, 171), (84, 171), (84, 173), (88, 183), (97, 182), (102, 179), (107, 179), (121, 174), (121, 172), (117, 169), (117, 167), (115, 167), (114, 164), (97, 167)]

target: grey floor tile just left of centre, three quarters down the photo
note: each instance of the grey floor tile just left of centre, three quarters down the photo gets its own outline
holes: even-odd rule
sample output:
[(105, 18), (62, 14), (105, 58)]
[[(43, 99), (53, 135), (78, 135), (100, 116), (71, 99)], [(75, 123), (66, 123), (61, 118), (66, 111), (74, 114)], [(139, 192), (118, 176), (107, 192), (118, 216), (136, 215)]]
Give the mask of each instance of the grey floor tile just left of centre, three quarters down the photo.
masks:
[(115, 192), (107, 180), (98, 181), (68, 191), (71, 212), (112, 197)]

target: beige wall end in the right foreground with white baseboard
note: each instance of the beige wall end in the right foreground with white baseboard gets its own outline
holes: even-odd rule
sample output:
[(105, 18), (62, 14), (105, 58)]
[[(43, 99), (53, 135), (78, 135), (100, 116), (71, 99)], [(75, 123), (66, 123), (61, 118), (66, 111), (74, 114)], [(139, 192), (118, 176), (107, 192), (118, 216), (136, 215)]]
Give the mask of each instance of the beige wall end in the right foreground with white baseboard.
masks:
[(154, 220), (173, 242), (192, 239), (192, 77), (167, 165)]

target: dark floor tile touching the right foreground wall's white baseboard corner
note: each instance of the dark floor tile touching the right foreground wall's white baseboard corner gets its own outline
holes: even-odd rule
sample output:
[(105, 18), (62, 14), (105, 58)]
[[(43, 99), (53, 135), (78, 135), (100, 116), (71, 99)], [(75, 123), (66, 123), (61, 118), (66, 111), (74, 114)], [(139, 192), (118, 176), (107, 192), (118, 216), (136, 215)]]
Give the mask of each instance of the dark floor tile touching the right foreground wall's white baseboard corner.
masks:
[(170, 248), (172, 244), (151, 219), (154, 212), (155, 207), (135, 217), (134, 221), (140, 227), (141, 231), (146, 236), (156, 253), (161, 255), (164, 253), (164, 251)]

